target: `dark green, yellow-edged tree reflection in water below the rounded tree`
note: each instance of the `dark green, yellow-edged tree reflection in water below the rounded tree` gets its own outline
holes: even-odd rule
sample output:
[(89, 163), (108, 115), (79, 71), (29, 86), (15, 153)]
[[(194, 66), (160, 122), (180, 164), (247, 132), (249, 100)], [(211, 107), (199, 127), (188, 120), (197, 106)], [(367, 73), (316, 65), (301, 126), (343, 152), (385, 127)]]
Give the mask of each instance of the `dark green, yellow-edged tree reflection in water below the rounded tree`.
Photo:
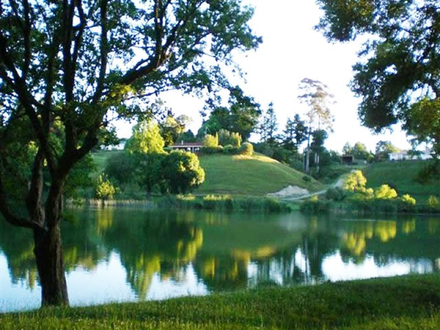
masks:
[[(111, 212), (109, 212), (111, 210)], [(118, 251), (126, 270), (126, 281), (137, 297), (144, 299), (153, 276), (179, 281), (181, 267), (194, 260), (203, 244), (203, 232), (175, 213), (96, 211), (97, 222), (113, 225), (100, 228), (104, 244)], [(113, 221), (104, 221), (112, 217)]]

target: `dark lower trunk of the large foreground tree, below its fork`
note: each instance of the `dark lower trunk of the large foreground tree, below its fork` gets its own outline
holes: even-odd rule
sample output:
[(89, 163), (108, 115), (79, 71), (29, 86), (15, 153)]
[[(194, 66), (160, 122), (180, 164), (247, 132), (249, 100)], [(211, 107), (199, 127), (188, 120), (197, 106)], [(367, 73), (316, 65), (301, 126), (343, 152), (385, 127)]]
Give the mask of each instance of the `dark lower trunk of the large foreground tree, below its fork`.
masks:
[(34, 243), (41, 306), (69, 305), (59, 221), (46, 230), (34, 230)]

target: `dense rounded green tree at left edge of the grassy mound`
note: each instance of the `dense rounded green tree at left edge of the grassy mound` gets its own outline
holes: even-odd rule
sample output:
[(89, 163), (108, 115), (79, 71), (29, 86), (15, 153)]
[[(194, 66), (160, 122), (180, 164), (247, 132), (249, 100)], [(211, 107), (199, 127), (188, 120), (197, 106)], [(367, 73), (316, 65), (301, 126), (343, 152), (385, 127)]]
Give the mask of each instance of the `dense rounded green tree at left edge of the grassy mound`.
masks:
[(173, 151), (162, 160), (163, 187), (185, 194), (205, 181), (205, 171), (194, 153)]

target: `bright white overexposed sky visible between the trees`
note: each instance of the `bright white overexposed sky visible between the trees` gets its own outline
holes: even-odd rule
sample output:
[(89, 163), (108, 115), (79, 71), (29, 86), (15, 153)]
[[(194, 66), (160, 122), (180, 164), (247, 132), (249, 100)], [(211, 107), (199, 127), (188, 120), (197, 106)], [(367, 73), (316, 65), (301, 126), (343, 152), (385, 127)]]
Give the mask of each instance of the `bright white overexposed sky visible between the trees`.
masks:
[[(335, 122), (333, 133), (326, 142), (327, 148), (341, 151), (346, 142), (353, 145), (360, 141), (374, 151), (380, 140), (391, 140), (399, 148), (410, 148), (406, 135), (398, 126), (392, 133), (374, 135), (360, 125), (357, 111), (360, 99), (355, 98), (348, 87), (360, 43), (327, 43), (320, 32), (313, 30), (321, 15), (313, 0), (243, 2), (255, 8), (250, 25), (257, 35), (263, 36), (263, 44), (254, 52), (234, 56), (247, 73), (247, 81), (240, 85), (262, 105), (262, 109), (274, 102), (280, 131), (288, 117), (305, 112), (304, 105), (297, 100), (298, 84), (303, 78), (311, 78), (328, 85), (337, 101), (331, 108)], [(190, 129), (197, 133), (201, 125), (201, 100), (174, 92), (163, 94), (161, 98), (177, 115), (190, 115), (193, 120)], [(121, 125), (119, 135), (129, 137), (129, 125)], [(258, 139), (254, 137), (254, 140)]]

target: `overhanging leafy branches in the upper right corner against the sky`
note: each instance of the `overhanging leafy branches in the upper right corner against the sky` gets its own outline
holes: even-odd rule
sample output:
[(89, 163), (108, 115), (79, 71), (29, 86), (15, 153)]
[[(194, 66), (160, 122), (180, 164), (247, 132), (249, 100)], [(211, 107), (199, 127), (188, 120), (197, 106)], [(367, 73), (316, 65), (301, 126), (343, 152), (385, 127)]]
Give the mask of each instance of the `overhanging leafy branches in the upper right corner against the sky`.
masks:
[(440, 155), (440, 15), (437, 0), (317, 0), (317, 28), (330, 41), (367, 36), (351, 89), (362, 123), (375, 130), (401, 122)]

